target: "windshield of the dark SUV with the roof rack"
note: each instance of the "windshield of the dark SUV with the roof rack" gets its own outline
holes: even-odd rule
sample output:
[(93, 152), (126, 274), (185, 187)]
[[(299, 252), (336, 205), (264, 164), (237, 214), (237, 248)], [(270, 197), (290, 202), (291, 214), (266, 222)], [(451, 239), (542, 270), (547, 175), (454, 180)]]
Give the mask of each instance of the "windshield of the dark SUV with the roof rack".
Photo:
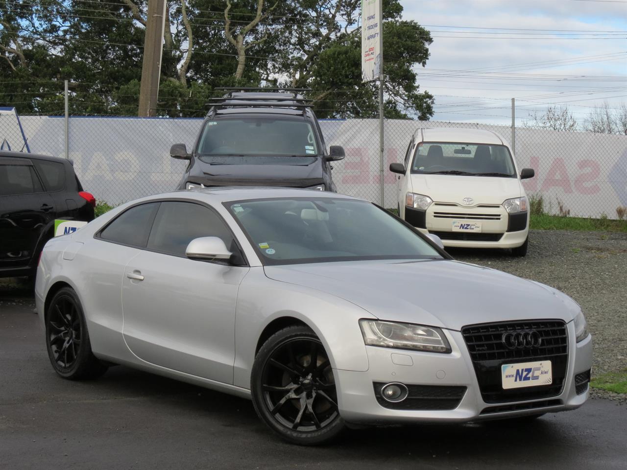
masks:
[(317, 155), (314, 131), (303, 120), (251, 117), (205, 122), (197, 153), (201, 156)]

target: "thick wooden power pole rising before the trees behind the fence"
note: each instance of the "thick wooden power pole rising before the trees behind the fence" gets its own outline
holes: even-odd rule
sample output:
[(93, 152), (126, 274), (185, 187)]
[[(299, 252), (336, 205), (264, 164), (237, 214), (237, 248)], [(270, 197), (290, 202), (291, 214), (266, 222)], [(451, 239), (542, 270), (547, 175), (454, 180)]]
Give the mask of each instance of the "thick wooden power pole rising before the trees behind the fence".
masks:
[(165, 27), (166, 0), (148, 0), (142, 84), (139, 89), (139, 117), (150, 117), (157, 114)]

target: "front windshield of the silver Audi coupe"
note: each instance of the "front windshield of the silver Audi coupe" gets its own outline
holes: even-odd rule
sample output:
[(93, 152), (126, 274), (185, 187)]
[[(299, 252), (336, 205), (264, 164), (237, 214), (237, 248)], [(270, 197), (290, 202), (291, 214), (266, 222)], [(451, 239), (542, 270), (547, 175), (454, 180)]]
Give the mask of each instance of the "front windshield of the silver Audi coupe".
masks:
[(224, 205), (263, 264), (442, 258), (403, 222), (365, 201), (299, 197)]

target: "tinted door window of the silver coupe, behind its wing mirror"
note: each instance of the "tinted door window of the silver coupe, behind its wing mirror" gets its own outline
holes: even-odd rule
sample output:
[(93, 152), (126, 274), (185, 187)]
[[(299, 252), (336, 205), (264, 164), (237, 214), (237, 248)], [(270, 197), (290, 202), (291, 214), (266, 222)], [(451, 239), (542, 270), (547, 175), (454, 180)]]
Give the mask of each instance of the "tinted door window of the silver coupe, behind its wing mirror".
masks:
[(189, 242), (199, 237), (219, 237), (228, 248), (233, 244), (228, 227), (207, 207), (193, 202), (162, 202), (147, 248), (185, 256)]

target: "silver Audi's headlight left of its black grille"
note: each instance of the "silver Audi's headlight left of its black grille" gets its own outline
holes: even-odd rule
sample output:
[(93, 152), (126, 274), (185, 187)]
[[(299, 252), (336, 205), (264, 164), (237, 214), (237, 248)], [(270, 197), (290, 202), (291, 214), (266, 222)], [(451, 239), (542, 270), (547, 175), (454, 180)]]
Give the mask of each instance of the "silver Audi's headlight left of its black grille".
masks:
[(435, 326), (396, 323), (395, 321), (359, 320), (364, 343), (386, 348), (450, 353), (451, 345)]

